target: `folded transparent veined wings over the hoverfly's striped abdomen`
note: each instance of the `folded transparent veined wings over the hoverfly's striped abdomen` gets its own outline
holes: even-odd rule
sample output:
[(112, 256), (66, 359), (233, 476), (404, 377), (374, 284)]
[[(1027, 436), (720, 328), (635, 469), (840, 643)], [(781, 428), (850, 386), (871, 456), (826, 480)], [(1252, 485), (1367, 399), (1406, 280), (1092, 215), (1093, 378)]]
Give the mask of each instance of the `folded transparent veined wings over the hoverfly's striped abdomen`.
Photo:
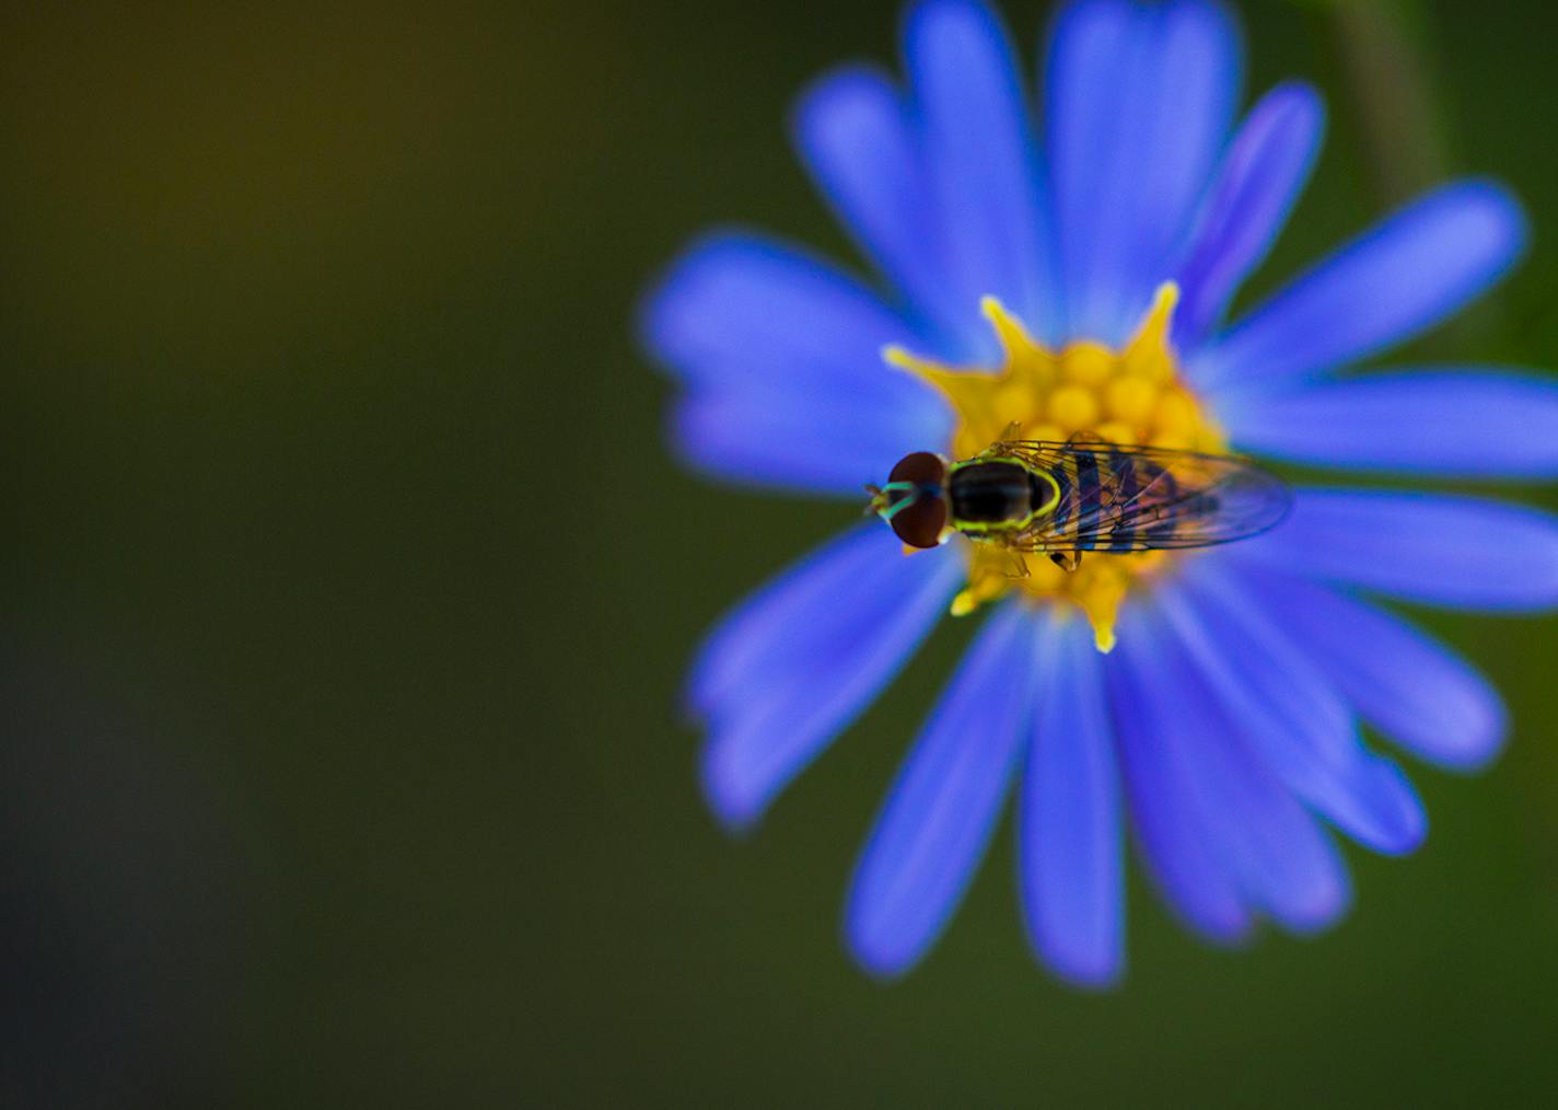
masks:
[(1140, 552), (1209, 547), (1279, 524), (1287, 485), (1248, 458), (1111, 443), (1010, 440), (991, 454), (1022, 458), (1055, 477), (1055, 511), (1014, 536), (1017, 550)]

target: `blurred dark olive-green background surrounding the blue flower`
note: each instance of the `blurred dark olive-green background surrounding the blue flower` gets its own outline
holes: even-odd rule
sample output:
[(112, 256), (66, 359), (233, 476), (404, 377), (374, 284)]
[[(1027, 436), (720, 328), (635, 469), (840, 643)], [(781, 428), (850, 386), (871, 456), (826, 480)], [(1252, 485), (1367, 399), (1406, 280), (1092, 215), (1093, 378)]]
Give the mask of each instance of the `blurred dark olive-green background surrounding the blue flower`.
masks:
[[(1028, 59), (1047, 6), (1006, 6)], [(1245, 5), (1331, 136), (1246, 292), (1460, 171), (1535, 251), (1416, 354), (1558, 366), (1558, 19)], [(798, 87), (897, 5), (6, 5), (0, 1101), (1465, 1105), (1558, 1080), (1558, 622), (1427, 622), (1508, 695), (1335, 932), (1130, 973), (1024, 945), (1010, 829), (883, 987), (843, 887), (968, 630), (759, 832), (693, 781), (700, 631), (855, 518), (682, 474), (639, 293), (746, 221), (848, 257)], [(1468, 447), (1474, 449), (1474, 446)], [(1532, 500), (1549, 494), (1521, 493)]]

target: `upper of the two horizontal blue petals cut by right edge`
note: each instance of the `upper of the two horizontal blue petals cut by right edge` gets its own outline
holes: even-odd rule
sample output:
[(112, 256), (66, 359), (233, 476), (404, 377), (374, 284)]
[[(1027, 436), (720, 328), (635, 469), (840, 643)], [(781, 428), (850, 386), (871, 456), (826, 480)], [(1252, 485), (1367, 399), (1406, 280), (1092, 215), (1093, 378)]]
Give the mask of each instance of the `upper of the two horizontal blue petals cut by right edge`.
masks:
[(1558, 379), (1410, 369), (1218, 404), (1239, 446), (1321, 466), (1450, 477), (1558, 475)]

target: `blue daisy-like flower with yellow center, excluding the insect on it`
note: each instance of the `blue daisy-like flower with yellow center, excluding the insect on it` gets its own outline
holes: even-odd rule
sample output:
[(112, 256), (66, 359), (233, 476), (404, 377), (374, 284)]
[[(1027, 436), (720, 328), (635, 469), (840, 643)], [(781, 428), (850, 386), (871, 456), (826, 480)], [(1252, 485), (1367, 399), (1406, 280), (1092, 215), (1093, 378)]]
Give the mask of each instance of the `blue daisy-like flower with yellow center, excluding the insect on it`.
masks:
[[(1237, 37), (1197, 0), (1067, 5), (1047, 55), (1030, 97), (986, 6), (927, 0), (904, 27), (904, 84), (855, 65), (804, 94), (801, 157), (876, 279), (738, 232), (676, 262), (643, 327), (684, 387), (671, 438), (692, 466), (858, 497), (910, 451), (968, 457), (1017, 421), (1028, 438), (1394, 475), (1558, 475), (1547, 377), (1346, 373), (1511, 267), (1525, 228), (1502, 187), (1422, 196), (1229, 324), (1313, 164), (1320, 97), (1281, 84), (1235, 125)], [(1313, 932), (1351, 900), (1334, 832), (1388, 854), (1426, 834), (1360, 725), (1447, 769), (1485, 764), (1507, 728), (1471, 664), (1363, 596), (1550, 608), (1558, 519), (1301, 488), (1264, 536), (1022, 582), (961, 539), (905, 558), (872, 521), (709, 636), (689, 694), (703, 784), (729, 826), (753, 825), (949, 606), (978, 613), (849, 890), (866, 970), (924, 956), (1014, 786), (1027, 931), (1070, 982), (1122, 971), (1126, 828), (1201, 937), (1237, 943), (1262, 920)]]

